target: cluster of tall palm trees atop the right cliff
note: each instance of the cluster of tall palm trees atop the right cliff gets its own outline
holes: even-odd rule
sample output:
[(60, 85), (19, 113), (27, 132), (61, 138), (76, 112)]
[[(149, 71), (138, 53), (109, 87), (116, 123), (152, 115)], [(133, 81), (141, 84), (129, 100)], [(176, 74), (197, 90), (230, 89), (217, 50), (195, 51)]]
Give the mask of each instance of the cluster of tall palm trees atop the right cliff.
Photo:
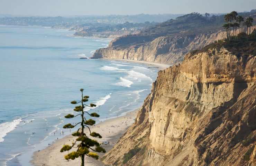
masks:
[[(239, 34), (240, 34), (240, 27), (241, 23), (244, 21), (244, 18), (242, 16), (238, 16), (238, 13), (236, 11), (232, 11), (231, 13), (228, 13), (224, 16), (226, 24), (223, 25), (223, 27), (226, 30), (227, 33), (227, 40), (231, 39), (231, 28), (233, 29), (233, 39), (236, 39), (237, 36), (237, 28), (239, 28)], [(243, 22), (243, 25), (247, 26), (247, 36), (250, 34), (250, 27), (253, 26), (253, 18), (247, 17), (246, 20)]]

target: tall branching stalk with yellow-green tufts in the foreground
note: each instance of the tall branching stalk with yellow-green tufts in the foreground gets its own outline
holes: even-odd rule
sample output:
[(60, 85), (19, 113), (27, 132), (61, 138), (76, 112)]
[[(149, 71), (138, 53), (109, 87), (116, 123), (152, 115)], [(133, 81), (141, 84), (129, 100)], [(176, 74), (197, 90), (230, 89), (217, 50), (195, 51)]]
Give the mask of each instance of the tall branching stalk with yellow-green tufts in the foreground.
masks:
[[(61, 149), (61, 152), (64, 151), (68, 151), (70, 149), (72, 149), (75, 145), (76, 142), (80, 142), (77, 145), (77, 150), (73, 151), (71, 153), (68, 153), (67, 155), (65, 155), (65, 159), (66, 160), (74, 160), (75, 158), (80, 157), (81, 158), (81, 166), (84, 166), (84, 157), (89, 156), (92, 157), (94, 159), (98, 159), (99, 156), (96, 153), (93, 153), (91, 151), (95, 151), (95, 152), (102, 152), (102, 153), (106, 153), (106, 150), (104, 148), (102, 148), (99, 144), (99, 142), (97, 142), (96, 140), (90, 139), (88, 136), (86, 136), (86, 134), (84, 133), (84, 128), (88, 128), (89, 132), (90, 132), (90, 136), (92, 137), (98, 137), (98, 138), (102, 138), (101, 135), (99, 133), (96, 132), (91, 132), (90, 127), (93, 124), (95, 124), (95, 121), (92, 119), (88, 119), (86, 120), (85, 118), (85, 113), (87, 113), (90, 117), (100, 117), (97, 113), (91, 113), (89, 114), (88, 112), (84, 111), (85, 107), (96, 107), (95, 104), (90, 104), (90, 105), (86, 105), (84, 104), (85, 102), (88, 101), (89, 96), (83, 96), (83, 89), (80, 89), (82, 96), (81, 96), (81, 100), (77, 101), (71, 101), (71, 104), (79, 104), (81, 103), (81, 105), (76, 106), (74, 111), (76, 112), (80, 112), (79, 114), (77, 114), (76, 116), (81, 116), (81, 122), (76, 123), (75, 125), (72, 125), (71, 123), (65, 124), (63, 126), (63, 128), (74, 128), (75, 126), (77, 126), (78, 124), (81, 124), (81, 127), (74, 133), (72, 133), (73, 136), (78, 136), (78, 138), (76, 139), (75, 142), (72, 143), (72, 145), (64, 145)], [(68, 114), (65, 116), (65, 118), (74, 118), (76, 117), (72, 114)], [(95, 148), (92, 148), (95, 147)]]

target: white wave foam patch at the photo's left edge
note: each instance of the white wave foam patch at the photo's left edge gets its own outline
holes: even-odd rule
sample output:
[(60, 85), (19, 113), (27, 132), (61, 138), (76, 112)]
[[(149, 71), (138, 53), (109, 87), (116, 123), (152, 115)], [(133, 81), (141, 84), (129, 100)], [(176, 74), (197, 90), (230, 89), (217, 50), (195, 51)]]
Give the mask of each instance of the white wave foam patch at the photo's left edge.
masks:
[(14, 130), (21, 121), (22, 119), (16, 119), (16, 120), (13, 120), (12, 122), (5, 122), (0, 124), (0, 131), (1, 131), (0, 142), (3, 142), (4, 141), (3, 137), (5, 137), (8, 132), (11, 132), (12, 130)]

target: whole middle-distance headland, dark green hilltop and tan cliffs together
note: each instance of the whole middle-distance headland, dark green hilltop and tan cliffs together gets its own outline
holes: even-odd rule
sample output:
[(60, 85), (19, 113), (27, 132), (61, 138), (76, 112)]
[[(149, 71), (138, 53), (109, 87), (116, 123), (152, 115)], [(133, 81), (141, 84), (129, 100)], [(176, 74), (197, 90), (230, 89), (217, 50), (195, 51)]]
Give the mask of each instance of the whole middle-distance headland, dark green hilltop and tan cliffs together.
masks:
[[(253, 13), (239, 14), (246, 17)], [(201, 49), (226, 37), (223, 24), (223, 15), (204, 17), (191, 13), (144, 29), (138, 34), (118, 37), (110, 42), (109, 47), (96, 50), (93, 58), (178, 64), (191, 50)], [(246, 31), (246, 28), (241, 28), (241, 31)]]

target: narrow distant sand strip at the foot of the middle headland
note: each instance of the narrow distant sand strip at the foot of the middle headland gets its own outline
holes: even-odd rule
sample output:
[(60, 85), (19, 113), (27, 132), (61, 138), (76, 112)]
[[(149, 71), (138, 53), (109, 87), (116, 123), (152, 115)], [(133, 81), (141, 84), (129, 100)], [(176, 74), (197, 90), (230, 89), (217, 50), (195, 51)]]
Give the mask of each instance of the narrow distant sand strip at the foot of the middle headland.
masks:
[(165, 70), (166, 68), (171, 67), (171, 65), (168, 65), (168, 64), (148, 62), (148, 61), (138, 61), (138, 60), (132, 60), (132, 59), (116, 59), (116, 58), (91, 58), (91, 59), (101, 59), (101, 60), (112, 60), (112, 61), (140, 63), (140, 64), (148, 65), (149, 68), (153, 66), (153, 67), (158, 68), (160, 70)]

